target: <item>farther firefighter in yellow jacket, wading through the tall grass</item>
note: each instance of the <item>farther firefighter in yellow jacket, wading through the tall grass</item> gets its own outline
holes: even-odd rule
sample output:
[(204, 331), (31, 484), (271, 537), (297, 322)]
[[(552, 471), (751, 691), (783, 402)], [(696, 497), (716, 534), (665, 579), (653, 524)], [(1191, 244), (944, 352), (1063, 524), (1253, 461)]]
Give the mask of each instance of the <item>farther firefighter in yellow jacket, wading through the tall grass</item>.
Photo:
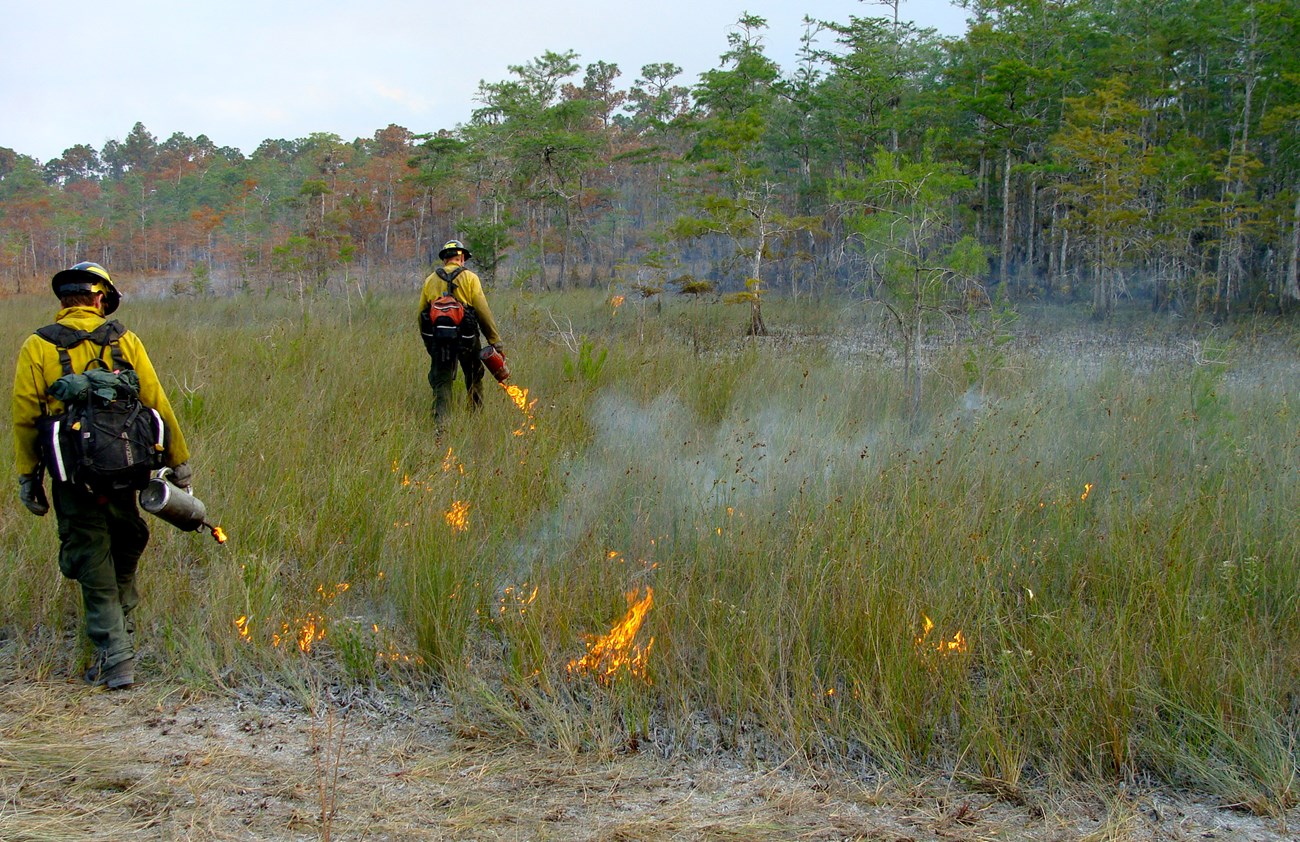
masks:
[[(493, 318), (491, 308), (488, 307), (488, 296), (484, 295), (482, 281), (478, 279), (477, 274), (465, 269), (465, 261), (471, 257), (473, 255), (460, 240), (447, 240), (438, 251), (438, 259), (443, 261), (443, 265), (442, 269), (433, 272), (424, 279), (424, 287), (420, 291), (421, 318), (429, 312), (433, 300), (446, 295), (448, 288), (454, 286), (452, 295), (472, 311), (482, 337), (504, 356), (500, 334), (497, 333), (497, 320)], [(451, 283), (445, 279), (446, 277), (451, 278)], [(478, 357), (478, 352), (482, 350), (478, 334), (474, 333), (472, 338), (463, 337), (454, 346), (445, 347), (439, 347), (426, 337), (425, 348), (430, 357), (429, 386), (433, 389), (434, 421), (438, 424), (446, 421), (451, 408), (451, 383), (456, 378), (458, 364), (465, 374), (465, 391), (469, 395), (471, 408), (482, 405), (484, 364)]]

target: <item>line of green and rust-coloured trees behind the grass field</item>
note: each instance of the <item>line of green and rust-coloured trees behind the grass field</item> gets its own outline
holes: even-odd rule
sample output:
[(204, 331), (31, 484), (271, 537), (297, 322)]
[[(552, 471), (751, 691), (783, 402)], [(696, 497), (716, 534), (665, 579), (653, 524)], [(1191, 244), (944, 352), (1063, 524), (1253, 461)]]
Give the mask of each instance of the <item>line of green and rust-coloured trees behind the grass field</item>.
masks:
[(768, 291), (861, 291), (901, 320), (1300, 305), (1294, 0), (965, 0), (959, 38), (901, 3), (806, 18), (792, 68), (742, 16), (693, 82), (545, 52), (428, 134), (0, 147), (0, 279), (90, 259), (307, 294), (417, 274), (455, 235), (498, 283), (716, 291), (754, 331)]

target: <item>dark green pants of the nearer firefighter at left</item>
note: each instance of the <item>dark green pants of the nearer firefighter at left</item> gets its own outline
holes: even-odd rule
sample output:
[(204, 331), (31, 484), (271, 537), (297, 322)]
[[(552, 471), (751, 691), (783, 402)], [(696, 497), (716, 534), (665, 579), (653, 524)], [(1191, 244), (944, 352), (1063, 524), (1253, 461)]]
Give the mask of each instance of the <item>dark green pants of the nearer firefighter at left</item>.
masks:
[(94, 494), (69, 482), (53, 483), (58, 517), (58, 569), (82, 587), (86, 637), (107, 669), (135, 656), (127, 633), (139, 603), (135, 568), (150, 529), (135, 508), (134, 491)]

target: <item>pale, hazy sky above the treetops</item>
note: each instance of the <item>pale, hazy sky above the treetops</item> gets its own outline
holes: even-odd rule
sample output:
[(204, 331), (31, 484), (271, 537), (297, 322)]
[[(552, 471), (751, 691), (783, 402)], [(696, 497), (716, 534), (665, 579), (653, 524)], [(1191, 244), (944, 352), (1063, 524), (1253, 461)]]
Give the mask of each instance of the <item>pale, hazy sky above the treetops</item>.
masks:
[[(136, 122), (159, 139), (207, 135), (251, 153), (268, 138), (324, 131), (351, 142), (396, 123), (455, 129), (480, 82), (546, 51), (581, 66), (719, 66), (744, 13), (767, 21), (764, 51), (794, 66), (805, 16), (888, 17), (862, 0), (46, 0), (6, 4), (0, 26), (0, 147), (39, 161), (103, 149)], [(901, 0), (900, 18), (966, 30), (949, 0)], [(826, 35), (822, 44), (832, 47)], [(581, 71), (573, 78), (581, 82)]]

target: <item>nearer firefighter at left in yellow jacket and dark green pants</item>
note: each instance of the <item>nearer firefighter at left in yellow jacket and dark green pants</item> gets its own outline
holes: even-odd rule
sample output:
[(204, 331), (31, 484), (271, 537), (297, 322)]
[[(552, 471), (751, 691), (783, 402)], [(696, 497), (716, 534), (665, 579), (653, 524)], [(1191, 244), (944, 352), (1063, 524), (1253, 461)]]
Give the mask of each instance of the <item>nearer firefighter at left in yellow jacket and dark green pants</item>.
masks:
[[(112, 314), (122, 299), (108, 272), (94, 262), (79, 262), (57, 273), (51, 287), (61, 305), (56, 324), (75, 331), (91, 333), (104, 326), (105, 316)], [(116, 333), (110, 330), (96, 337)], [(92, 357), (109, 360), (109, 351), (87, 338), (68, 347), (65, 353), (73, 370), (81, 373)], [(173, 469), (172, 481), (188, 487), (190, 451), (144, 344), (134, 333), (122, 329), (117, 348), (112, 351), (135, 369), (140, 402), (155, 409), (166, 426), (164, 457)], [(47, 390), (64, 373), (58, 347), (36, 334), (27, 337), (18, 352), (13, 378), (13, 444), (18, 496), (38, 516), (49, 511), (38, 438), (42, 418), (62, 411), (62, 404), (47, 395)], [(148, 526), (135, 507), (135, 490), (92, 490), (70, 481), (60, 482), (53, 476), (51, 481), (58, 521), (58, 569), (81, 583), (86, 635), (95, 646), (95, 660), (86, 680), (113, 690), (129, 687), (135, 681), (131, 619), (139, 603), (135, 569), (150, 539)]]

